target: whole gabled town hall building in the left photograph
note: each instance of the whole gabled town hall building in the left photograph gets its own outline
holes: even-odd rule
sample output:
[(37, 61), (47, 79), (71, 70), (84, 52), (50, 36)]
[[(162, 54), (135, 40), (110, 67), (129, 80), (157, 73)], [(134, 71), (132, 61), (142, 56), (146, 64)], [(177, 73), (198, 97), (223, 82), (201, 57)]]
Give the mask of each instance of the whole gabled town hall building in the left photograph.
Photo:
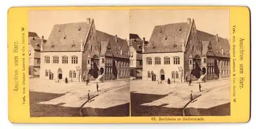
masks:
[(95, 29), (91, 18), (82, 23), (54, 25), (47, 44), (41, 47), (40, 77), (67, 77), (69, 81), (128, 77), (127, 42), (117, 35), (102, 33)]

